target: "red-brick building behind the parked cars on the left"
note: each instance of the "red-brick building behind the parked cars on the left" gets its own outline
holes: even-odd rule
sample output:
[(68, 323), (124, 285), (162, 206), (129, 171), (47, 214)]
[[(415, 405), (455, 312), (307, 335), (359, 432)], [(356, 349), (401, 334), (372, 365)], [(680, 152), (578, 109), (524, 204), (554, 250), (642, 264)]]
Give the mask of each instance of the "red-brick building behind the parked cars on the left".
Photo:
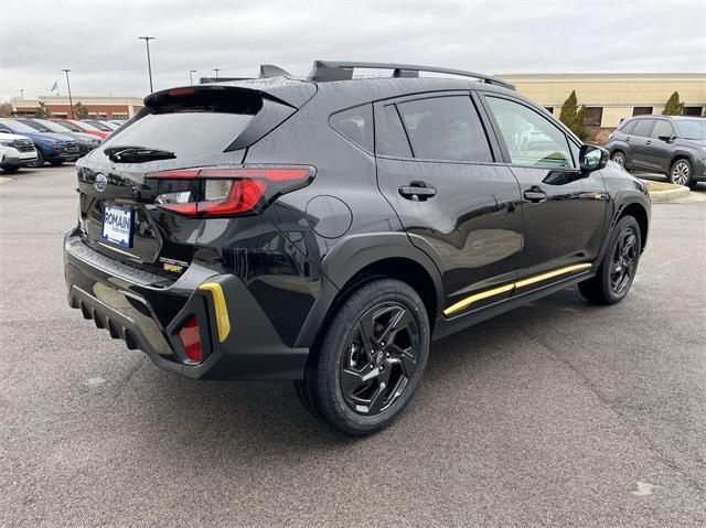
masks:
[[(88, 109), (88, 117), (97, 119), (129, 119), (142, 108), (140, 97), (73, 96), (74, 105), (81, 103)], [(40, 96), (36, 99), (13, 97), (12, 111), (18, 116), (32, 116), (40, 101), (44, 103), (50, 117), (71, 117), (68, 97)]]

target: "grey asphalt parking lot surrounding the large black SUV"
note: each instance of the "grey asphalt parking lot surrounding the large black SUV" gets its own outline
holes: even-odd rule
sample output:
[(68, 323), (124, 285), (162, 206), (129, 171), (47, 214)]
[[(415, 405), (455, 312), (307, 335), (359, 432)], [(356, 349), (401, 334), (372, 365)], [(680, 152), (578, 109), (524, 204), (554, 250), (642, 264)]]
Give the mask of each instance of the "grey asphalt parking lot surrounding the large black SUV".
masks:
[(402, 420), (351, 440), (290, 382), (181, 379), (71, 310), (73, 171), (0, 183), (0, 526), (706, 524), (706, 204), (654, 205), (621, 304), (437, 342)]

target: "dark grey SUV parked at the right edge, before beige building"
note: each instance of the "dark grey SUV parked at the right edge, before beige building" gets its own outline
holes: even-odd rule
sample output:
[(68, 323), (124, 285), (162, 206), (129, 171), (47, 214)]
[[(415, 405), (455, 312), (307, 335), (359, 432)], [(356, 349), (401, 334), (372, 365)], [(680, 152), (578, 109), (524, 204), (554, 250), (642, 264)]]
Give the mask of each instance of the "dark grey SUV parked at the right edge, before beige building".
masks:
[(625, 170), (666, 174), (670, 182), (694, 187), (706, 181), (706, 119), (640, 116), (620, 123), (606, 146)]

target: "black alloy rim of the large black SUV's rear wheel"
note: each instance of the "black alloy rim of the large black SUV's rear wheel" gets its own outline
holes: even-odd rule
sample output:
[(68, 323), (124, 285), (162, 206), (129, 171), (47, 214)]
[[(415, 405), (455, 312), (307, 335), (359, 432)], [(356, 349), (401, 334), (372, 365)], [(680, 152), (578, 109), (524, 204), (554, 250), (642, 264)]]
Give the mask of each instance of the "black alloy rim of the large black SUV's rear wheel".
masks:
[(381, 303), (349, 332), (340, 363), (341, 392), (360, 414), (388, 409), (404, 394), (417, 368), (419, 331), (409, 309)]

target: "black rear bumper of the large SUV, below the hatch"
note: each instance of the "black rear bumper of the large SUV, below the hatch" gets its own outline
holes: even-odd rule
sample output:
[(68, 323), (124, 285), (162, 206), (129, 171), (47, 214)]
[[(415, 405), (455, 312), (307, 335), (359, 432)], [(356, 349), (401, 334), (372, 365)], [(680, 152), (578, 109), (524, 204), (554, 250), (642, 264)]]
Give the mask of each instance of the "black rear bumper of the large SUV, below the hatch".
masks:
[[(69, 305), (128, 348), (147, 353), (158, 367), (205, 379), (303, 378), (309, 349), (286, 346), (234, 276), (192, 262), (179, 280), (165, 281), (93, 251), (75, 231), (64, 240), (64, 268)], [(204, 283), (223, 292), (227, 333), (224, 306), (213, 288), (199, 288)], [(178, 334), (192, 316), (201, 328), (201, 364), (189, 362)]]

